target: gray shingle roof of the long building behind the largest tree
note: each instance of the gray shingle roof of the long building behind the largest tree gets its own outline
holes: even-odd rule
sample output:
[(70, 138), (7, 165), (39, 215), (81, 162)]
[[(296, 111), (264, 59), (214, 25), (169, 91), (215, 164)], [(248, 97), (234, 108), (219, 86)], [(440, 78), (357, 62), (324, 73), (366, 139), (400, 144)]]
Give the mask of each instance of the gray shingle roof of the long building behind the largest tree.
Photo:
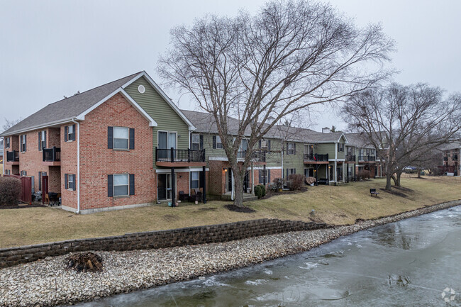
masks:
[[(198, 111), (181, 110), (189, 118), (197, 132), (218, 133), (216, 122), (211, 113)], [(228, 117), (228, 133), (235, 135), (238, 132), (238, 119)], [(247, 129), (246, 135), (250, 135), (250, 129)], [(287, 127), (285, 125), (274, 125), (267, 133), (267, 138), (280, 138), (300, 143), (334, 143), (338, 142), (342, 132), (321, 133), (306, 128)]]

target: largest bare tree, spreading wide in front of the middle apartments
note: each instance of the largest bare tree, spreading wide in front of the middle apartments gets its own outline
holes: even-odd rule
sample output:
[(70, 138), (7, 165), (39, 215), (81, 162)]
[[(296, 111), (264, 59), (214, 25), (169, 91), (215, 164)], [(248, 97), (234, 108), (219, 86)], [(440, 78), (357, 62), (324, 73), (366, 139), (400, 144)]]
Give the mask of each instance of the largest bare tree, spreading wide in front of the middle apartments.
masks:
[[(282, 118), (344, 99), (387, 77), (394, 43), (379, 25), (357, 28), (328, 4), (270, 1), (250, 16), (209, 15), (171, 30), (158, 72), (213, 115), (235, 175), (235, 205), (258, 141)], [(228, 116), (240, 120), (230, 133)], [(248, 155), (238, 163), (244, 133)]]

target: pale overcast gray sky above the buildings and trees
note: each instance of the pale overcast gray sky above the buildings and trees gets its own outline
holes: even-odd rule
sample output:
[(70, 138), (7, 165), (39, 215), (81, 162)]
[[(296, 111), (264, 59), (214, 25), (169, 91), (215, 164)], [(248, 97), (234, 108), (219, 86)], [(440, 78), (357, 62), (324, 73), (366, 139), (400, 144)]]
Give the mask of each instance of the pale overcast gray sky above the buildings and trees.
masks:
[[(257, 11), (263, 0), (195, 1), (0, 0), (0, 127), (43, 106), (145, 70), (157, 83), (157, 57), (170, 28), (204, 13)], [(428, 82), (459, 91), (461, 1), (331, 0), (359, 26), (382, 23), (397, 43), (392, 66), (403, 84)], [(174, 101), (179, 95), (167, 91)], [(187, 95), (181, 108), (194, 109)], [(311, 128), (345, 128), (334, 110), (316, 108)], [(1, 128), (0, 128), (1, 130)]]

